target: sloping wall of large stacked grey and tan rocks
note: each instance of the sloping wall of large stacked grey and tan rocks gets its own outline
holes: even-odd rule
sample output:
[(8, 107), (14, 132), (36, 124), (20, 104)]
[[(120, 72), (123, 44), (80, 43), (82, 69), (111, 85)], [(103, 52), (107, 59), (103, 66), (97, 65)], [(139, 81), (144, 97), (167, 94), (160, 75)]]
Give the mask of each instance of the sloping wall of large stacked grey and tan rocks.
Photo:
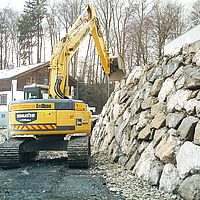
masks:
[(151, 185), (200, 199), (199, 89), (200, 42), (134, 67), (100, 114), (93, 151), (108, 150)]

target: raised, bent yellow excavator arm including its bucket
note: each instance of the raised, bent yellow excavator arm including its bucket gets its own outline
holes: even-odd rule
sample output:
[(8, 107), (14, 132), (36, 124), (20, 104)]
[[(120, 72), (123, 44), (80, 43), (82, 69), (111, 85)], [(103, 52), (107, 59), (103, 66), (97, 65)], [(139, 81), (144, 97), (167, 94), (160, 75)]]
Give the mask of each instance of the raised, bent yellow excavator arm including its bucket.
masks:
[[(85, 12), (86, 18), (84, 18)], [(115, 76), (111, 80), (120, 80), (125, 75), (122, 59), (110, 58), (107, 52), (95, 8), (87, 5), (68, 34), (54, 48), (50, 63), (49, 98), (69, 97), (69, 62), (89, 34), (93, 36), (105, 74), (111, 77), (114, 73)], [(116, 73), (119, 73), (119, 77)]]

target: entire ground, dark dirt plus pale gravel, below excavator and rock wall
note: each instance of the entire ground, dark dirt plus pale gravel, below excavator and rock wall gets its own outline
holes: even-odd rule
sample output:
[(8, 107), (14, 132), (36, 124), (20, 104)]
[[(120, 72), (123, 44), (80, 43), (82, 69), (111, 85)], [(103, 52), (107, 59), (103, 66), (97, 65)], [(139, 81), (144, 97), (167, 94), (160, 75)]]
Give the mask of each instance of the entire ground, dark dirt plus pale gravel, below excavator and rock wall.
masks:
[(107, 152), (92, 155), (89, 169), (69, 169), (66, 152), (41, 152), (20, 169), (0, 169), (0, 199), (181, 200), (112, 163)]

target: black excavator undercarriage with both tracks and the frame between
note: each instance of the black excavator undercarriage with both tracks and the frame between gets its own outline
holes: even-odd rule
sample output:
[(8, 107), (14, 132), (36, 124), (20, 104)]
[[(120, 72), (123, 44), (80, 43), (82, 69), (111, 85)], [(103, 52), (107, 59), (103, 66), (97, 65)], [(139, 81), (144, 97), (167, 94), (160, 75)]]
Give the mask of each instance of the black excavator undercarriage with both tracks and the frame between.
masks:
[(88, 135), (72, 137), (14, 137), (0, 145), (0, 167), (18, 168), (33, 160), (39, 151), (67, 151), (70, 168), (88, 168), (90, 163), (90, 138)]

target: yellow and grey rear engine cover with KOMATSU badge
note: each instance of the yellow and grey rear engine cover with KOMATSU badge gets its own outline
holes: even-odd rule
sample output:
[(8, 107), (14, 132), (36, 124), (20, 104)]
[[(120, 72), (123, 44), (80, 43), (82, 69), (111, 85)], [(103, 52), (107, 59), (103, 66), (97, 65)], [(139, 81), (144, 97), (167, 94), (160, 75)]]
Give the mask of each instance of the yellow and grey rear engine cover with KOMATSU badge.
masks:
[(11, 135), (56, 135), (89, 133), (91, 113), (82, 101), (34, 99), (9, 106)]

